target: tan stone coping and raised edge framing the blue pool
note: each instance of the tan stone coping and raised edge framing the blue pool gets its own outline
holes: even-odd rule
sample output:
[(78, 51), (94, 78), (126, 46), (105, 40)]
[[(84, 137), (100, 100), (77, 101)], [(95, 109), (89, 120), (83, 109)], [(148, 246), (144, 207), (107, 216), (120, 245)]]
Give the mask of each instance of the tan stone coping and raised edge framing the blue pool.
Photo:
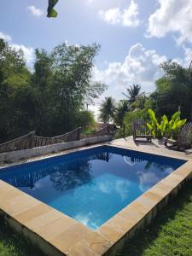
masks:
[[(104, 145), (168, 156), (187, 162), (137, 197), (95, 231), (2, 180), (0, 180), (0, 214), (15, 230), (22, 232), (48, 255), (115, 255), (125, 240), (133, 236), (138, 229), (143, 228), (143, 225), (150, 223), (160, 208), (166, 205), (170, 196), (176, 195), (178, 189), (192, 177), (192, 159), (187, 156), (174, 156), (171, 150), (170, 153), (162, 154), (148, 149), (138, 150), (110, 143), (74, 148), (64, 154)], [(59, 154), (47, 157), (55, 157), (55, 155)], [(38, 158), (41, 159), (43, 158)], [(20, 161), (17, 164), (31, 161)]]

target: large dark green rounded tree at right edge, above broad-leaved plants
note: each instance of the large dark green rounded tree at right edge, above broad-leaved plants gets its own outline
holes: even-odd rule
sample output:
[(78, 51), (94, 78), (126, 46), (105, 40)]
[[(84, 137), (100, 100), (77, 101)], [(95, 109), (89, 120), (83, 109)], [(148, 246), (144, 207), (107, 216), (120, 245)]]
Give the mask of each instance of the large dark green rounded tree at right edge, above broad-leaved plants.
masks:
[(192, 113), (192, 82), (189, 71), (176, 62), (166, 61), (160, 65), (164, 75), (155, 82), (156, 89), (151, 94), (153, 109), (157, 116), (167, 115), (178, 108), (181, 110), (182, 118), (191, 119)]

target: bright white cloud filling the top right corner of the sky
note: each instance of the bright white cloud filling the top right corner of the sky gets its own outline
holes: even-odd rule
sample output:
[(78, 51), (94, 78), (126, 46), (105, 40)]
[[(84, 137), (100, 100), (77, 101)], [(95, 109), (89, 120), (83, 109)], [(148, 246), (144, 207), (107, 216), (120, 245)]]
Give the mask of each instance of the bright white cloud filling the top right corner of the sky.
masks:
[(192, 0), (158, 0), (159, 8), (148, 19), (148, 37), (177, 33), (177, 44), (192, 43)]

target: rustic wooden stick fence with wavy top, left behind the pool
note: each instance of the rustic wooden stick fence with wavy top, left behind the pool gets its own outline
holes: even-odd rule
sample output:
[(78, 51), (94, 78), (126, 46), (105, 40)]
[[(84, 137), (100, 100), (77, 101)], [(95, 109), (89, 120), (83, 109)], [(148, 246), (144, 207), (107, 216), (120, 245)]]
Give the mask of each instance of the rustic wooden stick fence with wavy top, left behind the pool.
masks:
[(67, 143), (84, 138), (98, 137), (107, 134), (109, 135), (108, 125), (102, 128), (102, 130), (96, 131), (94, 133), (82, 133), (81, 130), (81, 127), (79, 127), (73, 131), (67, 132), (57, 137), (38, 137), (35, 135), (35, 131), (31, 131), (22, 137), (18, 137), (7, 143), (0, 144), (0, 153), (28, 148), (37, 148), (56, 143)]

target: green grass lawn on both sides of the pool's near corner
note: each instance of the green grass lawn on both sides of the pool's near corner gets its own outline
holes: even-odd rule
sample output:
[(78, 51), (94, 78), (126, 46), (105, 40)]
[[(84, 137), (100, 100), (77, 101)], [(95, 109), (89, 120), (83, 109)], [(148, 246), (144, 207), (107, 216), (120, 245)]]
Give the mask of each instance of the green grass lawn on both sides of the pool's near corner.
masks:
[[(0, 220), (0, 256), (24, 255), (44, 254)], [(192, 256), (192, 182), (118, 255)]]

